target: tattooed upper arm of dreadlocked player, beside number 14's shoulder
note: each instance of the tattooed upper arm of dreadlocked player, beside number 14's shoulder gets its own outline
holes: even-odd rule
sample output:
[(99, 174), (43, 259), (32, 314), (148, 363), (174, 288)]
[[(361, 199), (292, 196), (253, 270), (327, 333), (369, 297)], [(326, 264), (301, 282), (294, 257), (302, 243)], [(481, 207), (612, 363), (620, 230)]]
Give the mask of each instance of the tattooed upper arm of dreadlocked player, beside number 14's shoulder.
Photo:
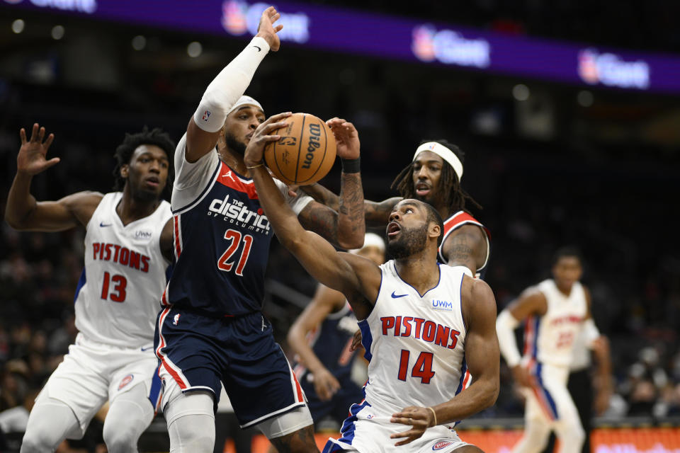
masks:
[(450, 266), (465, 266), (477, 273), (487, 259), (487, 239), (477, 225), (463, 225), (448, 235), (442, 246), (442, 254)]

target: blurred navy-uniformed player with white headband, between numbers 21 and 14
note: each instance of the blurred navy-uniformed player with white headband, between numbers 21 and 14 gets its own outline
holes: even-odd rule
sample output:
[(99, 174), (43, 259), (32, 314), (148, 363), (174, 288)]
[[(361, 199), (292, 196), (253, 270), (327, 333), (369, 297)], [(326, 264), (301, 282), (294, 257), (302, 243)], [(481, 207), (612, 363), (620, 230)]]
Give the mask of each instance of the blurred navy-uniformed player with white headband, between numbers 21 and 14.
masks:
[[(385, 241), (367, 233), (363, 247), (353, 250), (377, 265), (385, 262)], [(305, 390), (314, 423), (327, 415), (342, 423), (349, 406), (361, 400), (361, 387), (351, 380), (356, 316), (341, 292), (319, 285), (314, 299), (288, 331), (297, 354), (295, 374)]]

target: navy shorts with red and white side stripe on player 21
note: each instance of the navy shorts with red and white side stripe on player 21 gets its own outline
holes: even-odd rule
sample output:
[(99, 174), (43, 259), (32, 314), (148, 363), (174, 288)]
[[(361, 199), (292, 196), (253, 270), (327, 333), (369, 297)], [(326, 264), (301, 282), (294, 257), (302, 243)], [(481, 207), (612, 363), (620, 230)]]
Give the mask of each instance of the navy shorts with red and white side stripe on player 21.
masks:
[(212, 318), (166, 307), (157, 318), (155, 350), (162, 377), (174, 379), (183, 393), (212, 391), (215, 409), (221, 381), (241, 428), (305, 405), (271, 324), (259, 312)]

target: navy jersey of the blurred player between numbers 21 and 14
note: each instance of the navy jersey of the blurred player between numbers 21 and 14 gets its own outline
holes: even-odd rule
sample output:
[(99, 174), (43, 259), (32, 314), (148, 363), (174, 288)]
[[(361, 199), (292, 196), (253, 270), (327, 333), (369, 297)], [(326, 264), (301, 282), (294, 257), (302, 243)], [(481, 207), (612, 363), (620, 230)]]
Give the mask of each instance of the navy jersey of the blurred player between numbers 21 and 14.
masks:
[[(310, 346), (314, 354), (331, 374), (342, 382), (349, 377), (354, 352), (349, 350), (354, 333), (358, 331), (356, 316), (347, 302), (335, 313), (329, 314), (316, 331), (312, 332)], [(302, 364), (295, 367), (295, 375), (301, 382), (306, 379), (307, 369)]]

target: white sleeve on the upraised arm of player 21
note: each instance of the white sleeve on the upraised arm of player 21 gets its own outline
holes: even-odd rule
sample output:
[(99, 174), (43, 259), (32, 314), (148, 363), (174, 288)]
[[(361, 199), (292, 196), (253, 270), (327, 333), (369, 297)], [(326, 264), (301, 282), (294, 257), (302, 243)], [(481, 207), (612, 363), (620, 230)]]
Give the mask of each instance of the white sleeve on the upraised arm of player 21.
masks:
[(232, 105), (250, 84), (255, 70), (269, 52), (266, 40), (256, 36), (232, 62), (217, 74), (198, 104), (193, 121), (205, 132), (217, 132), (225, 125)]

